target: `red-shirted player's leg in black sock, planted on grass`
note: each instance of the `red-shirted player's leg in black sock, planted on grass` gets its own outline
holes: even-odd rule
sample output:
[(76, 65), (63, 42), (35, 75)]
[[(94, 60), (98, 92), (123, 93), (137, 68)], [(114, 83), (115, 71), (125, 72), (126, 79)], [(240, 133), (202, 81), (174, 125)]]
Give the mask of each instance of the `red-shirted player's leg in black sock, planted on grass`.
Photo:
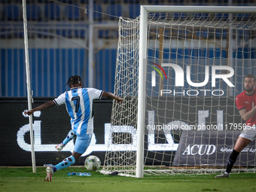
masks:
[(246, 139), (245, 137), (242, 136), (242, 134), (238, 137), (238, 139), (236, 140), (236, 145), (233, 148), (233, 151), (230, 154), (230, 157), (227, 161), (226, 171), (224, 172), (224, 174), (216, 175), (215, 178), (228, 178), (230, 176), (230, 172), (233, 167), (233, 164), (236, 163), (236, 159), (239, 153), (242, 151), (242, 149), (244, 149), (251, 142), (250, 139), (251, 138)]

